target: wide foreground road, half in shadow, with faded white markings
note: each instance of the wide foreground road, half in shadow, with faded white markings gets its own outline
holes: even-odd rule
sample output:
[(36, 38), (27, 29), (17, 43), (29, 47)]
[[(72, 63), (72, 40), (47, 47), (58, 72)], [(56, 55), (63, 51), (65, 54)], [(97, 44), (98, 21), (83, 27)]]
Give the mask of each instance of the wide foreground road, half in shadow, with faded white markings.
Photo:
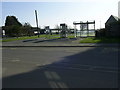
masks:
[(117, 47), (3, 47), (3, 88), (118, 88)]

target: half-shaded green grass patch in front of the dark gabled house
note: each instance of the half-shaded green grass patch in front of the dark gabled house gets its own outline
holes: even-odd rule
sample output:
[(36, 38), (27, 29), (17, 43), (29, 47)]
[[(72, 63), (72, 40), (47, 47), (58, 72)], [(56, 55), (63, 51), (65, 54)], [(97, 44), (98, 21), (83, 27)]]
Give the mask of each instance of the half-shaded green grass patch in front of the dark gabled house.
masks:
[(88, 38), (81, 40), (80, 43), (120, 43), (120, 38), (88, 37)]

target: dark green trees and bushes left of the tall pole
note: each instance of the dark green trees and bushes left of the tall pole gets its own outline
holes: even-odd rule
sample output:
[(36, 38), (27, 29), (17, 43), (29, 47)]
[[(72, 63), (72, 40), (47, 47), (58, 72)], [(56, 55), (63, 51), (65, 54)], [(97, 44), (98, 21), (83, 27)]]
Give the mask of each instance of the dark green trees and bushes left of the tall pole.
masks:
[(7, 16), (4, 27), (6, 36), (8, 37), (20, 37), (20, 36), (32, 36), (34, 32), (31, 29), (29, 23), (22, 25), (15, 16)]

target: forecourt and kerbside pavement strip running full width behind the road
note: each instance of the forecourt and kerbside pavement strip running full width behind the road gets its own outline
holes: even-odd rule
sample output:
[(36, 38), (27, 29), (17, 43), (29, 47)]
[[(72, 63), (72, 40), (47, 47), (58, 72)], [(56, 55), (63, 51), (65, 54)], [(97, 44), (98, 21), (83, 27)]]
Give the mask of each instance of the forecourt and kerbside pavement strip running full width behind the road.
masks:
[(119, 43), (79, 43), (82, 38), (72, 39), (27, 39), (3, 42), (3, 47), (118, 47)]

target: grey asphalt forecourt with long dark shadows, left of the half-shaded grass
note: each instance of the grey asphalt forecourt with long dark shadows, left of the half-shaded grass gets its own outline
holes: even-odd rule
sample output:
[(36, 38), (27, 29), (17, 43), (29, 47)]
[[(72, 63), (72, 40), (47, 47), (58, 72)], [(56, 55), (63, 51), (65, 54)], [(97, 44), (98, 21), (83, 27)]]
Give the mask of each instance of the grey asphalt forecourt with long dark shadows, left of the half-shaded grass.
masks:
[[(60, 46), (64, 44), (75, 44), (76, 39), (27, 39), (27, 40), (17, 40), (11, 42), (3, 42), (2, 46)], [(73, 43), (72, 43), (73, 42)], [(78, 43), (78, 42), (77, 42)]]

